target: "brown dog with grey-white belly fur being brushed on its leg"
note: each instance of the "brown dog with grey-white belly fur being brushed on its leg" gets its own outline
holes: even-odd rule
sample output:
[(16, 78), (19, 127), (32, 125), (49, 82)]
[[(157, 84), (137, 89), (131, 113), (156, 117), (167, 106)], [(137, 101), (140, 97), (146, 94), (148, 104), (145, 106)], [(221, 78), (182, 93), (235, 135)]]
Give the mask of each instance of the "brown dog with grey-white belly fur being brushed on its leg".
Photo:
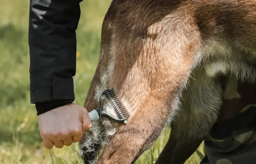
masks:
[(256, 0), (113, 0), (101, 35), (84, 107), (113, 87), (131, 116), (93, 121), (80, 141), (85, 163), (131, 164), (175, 122), (156, 163), (182, 164), (218, 118), (220, 76), (256, 78)]

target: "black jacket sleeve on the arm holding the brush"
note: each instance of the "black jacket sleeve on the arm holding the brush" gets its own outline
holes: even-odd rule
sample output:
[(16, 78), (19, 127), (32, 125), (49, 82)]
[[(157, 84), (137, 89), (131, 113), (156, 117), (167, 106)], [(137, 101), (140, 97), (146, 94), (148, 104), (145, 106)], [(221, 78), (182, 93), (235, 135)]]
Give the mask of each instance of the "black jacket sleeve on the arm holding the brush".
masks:
[(82, 0), (30, 0), (30, 103), (37, 115), (75, 100), (76, 29)]

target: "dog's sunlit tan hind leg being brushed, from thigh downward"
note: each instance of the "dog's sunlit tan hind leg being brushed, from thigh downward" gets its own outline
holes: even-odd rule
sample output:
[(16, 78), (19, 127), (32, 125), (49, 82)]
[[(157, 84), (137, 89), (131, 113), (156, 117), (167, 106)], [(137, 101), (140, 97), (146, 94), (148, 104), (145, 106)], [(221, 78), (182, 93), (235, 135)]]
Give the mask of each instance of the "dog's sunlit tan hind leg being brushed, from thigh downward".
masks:
[(193, 19), (184, 17), (184, 22), (170, 26), (170, 16), (140, 26), (133, 20), (136, 14), (127, 12), (115, 18), (107, 87), (114, 87), (131, 116), (104, 147), (97, 164), (131, 164), (150, 148), (175, 115), (201, 46)]

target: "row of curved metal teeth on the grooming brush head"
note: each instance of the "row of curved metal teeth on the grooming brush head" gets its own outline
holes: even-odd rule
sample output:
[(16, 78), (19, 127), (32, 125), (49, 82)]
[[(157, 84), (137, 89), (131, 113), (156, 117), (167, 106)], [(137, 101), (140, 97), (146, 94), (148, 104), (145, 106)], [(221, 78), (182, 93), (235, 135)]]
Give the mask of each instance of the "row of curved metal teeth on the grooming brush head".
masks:
[(112, 88), (111, 90), (106, 89), (104, 91), (104, 93), (105, 93), (105, 96), (107, 97), (108, 101), (113, 105), (118, 118), (119, 119), (128, 119), (130, 114), (124, 107), (124, 104), (122, 103), (122, 101), (120, 101), (120, 99), (116, 95), (116, 91), (114, 90), (114, 88)]

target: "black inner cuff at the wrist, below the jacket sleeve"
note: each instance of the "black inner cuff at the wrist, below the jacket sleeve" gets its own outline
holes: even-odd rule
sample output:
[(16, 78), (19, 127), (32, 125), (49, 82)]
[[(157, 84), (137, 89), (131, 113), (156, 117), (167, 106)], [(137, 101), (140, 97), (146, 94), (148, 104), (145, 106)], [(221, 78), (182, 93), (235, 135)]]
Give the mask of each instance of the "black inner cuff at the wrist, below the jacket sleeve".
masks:
[(38, 102), (36, 103), (37, 116), (45, 112), (48, 112), (52, 109), (64, 106), (66, 104), (70, 104), (72, 102), (73, 100), (54, 100), (54, 101)]

